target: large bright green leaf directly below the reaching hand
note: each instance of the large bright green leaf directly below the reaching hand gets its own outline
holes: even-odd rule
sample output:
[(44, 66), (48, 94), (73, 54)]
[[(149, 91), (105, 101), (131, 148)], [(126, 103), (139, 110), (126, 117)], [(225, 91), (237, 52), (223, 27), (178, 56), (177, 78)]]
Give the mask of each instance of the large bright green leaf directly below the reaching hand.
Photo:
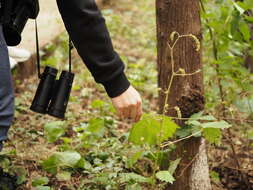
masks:
[(172, 137), (177, 128), (178, 125), (167, 116), (144, 114), (132, 127), (129, 141), (136, 145), (157, 145)]

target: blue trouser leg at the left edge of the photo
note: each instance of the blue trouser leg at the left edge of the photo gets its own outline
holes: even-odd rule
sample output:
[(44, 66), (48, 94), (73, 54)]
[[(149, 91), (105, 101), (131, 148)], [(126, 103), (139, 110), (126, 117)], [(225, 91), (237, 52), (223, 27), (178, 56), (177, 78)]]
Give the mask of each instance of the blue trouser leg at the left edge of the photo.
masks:
[[(14, 93), (7, 45), (0, 24), (0, 142), (7, 139), (14, 116)], [(0, 146), (1, 148), (1, 146)]]

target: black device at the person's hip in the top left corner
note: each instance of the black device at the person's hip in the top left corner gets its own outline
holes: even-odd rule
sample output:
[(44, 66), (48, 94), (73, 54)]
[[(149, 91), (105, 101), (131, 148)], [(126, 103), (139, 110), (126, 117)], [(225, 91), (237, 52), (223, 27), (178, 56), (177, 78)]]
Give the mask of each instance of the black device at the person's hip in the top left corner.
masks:
[(3, 33), (9, 46), (21, 41), (21, 34), (29, 18), (36, 19), (39, 13), (38, 0), (4, 0)]

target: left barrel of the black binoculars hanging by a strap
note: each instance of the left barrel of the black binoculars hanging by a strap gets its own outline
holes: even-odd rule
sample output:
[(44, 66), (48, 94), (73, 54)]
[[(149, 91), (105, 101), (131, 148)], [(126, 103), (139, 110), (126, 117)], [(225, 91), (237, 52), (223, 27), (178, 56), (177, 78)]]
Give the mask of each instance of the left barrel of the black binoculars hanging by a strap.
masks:
[(31, 110), (45, 114), (54, 89), (57, 70), (46, 67), (32, 102)]

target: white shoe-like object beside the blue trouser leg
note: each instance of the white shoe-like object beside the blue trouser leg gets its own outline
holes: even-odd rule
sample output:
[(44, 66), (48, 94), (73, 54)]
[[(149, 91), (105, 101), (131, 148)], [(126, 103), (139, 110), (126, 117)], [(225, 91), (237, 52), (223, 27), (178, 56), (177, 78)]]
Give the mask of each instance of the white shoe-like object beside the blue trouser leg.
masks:
[(31, 53), (25, 49), (8, 47), (9, 56), (15, 59), (17, 62), (27, 61), (31, 57)]

